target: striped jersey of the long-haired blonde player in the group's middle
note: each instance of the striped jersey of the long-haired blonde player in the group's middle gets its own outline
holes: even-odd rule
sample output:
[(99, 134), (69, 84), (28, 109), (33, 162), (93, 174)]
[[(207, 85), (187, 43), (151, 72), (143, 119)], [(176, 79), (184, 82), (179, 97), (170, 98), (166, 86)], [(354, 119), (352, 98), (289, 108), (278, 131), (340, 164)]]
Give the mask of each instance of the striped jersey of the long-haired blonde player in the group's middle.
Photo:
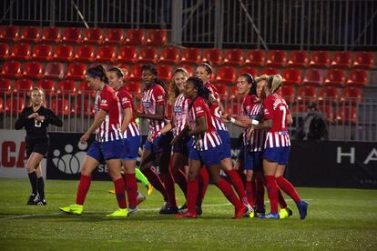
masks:
[(178, 134), (189, 124), (189, 98), (185, 95), (178, 95), (176, 102), (173, 107), (173, 118), (174, 118), (174, 136)]

